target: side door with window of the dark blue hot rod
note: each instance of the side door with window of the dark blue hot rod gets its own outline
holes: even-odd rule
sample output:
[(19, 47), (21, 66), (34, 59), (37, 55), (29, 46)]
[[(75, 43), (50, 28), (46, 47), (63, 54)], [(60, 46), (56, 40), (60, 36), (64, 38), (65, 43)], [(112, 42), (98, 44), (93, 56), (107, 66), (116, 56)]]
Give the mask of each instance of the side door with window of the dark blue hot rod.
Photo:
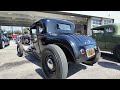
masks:
[(40, 53), (43, 49), (42, 47), (42, 39), (44, 37), (45, 30), (43, 28), (43, 24), (41, 22), (38, 22), (35, 24), (34, 27), (31, 28), (31, 38), (32, 38), (32, 44), (33, 44), (33, 52), (35, 52), (38, 56), (40, 56)]

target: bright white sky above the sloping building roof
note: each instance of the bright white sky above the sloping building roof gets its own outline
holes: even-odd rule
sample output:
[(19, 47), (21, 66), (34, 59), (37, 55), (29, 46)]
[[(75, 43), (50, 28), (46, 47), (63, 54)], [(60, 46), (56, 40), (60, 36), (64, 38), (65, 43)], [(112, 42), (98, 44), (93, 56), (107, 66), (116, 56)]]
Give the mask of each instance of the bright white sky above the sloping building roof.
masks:
[(114, 23), (120, 23), (120, 11), (62, 11), (83, 15), (99, 16), (114, 19)]

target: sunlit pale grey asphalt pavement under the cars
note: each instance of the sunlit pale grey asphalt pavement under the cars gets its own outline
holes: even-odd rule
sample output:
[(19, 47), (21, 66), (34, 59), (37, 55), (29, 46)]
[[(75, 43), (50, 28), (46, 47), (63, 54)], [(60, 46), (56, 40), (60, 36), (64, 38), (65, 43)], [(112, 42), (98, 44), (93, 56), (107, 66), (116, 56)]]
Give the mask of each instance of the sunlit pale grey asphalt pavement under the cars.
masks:
[[(44, 79), (41, 61), (31, 53), (18, 57), (16, 44), (0, 49), (0, 79)], [(93, 66), (69, 64), (67, 79), (120, 79), (120, 63), (112, 54), (102, 54)]]

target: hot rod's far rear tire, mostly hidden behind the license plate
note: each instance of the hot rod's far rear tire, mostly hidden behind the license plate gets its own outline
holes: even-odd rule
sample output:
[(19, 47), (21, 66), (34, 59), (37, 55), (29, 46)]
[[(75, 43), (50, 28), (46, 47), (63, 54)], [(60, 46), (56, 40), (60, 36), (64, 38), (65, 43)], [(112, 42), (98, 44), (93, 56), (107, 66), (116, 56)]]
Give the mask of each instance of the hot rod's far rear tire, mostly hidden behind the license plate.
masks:
[(84, 61), (83, 64), (93, 65), (98, 62), (100, 57), (101, 57), (101, 52), (100, 52), (100, 49), (98, 48), (98, 51), (96, 52), (96, 56), (89, 60)]

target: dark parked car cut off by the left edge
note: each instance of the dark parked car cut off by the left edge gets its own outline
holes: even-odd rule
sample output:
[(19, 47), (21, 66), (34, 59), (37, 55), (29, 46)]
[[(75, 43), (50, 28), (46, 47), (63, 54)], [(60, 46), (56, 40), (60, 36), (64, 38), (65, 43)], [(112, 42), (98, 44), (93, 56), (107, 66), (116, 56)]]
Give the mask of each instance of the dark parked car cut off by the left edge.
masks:
[(9, 38), (7, 38), (4, 32), (0, 30), (0, 49), (5, 48), (9, 44), (10, 44)]

